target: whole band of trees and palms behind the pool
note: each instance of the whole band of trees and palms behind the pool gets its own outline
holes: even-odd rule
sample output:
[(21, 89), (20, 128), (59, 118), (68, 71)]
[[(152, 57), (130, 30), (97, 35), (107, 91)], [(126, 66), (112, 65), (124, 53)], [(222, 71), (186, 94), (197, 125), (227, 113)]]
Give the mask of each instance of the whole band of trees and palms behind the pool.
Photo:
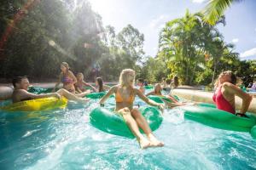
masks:
[[(216, 26), (204, 22), (200, 13), (187, 11), (168, 21), (154, 58), (144, 55), (143, 33), (131, 25), (119, 32), (113, 26), (103, 28), (88, 0), (10, 0), (1, 1), (0, 8), (1, 78), (56, 78), (62, 61), (74, 73), (83, 72), (86, 81), (101, 76), (116, 82), (125, 68), (149, 82), (177, 75), (189, 85), (210, 84), (225, 70), (235, 71), (245, 83), (256, 77), (255, 60), (241, 61), (234, 45), (224, 42)], [(225, 24), (224, 17), (218, 23)]]

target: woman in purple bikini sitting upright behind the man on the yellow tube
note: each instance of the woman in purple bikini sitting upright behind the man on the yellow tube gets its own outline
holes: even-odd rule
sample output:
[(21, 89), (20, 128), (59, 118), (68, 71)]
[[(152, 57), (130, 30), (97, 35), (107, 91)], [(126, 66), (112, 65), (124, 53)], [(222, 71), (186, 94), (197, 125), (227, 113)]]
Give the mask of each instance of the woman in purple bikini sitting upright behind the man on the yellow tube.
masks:
[[(69, 65), (67, 62), (61, 63), (61, 74), (59, 76), (58, 82), (55, 84), (55, 88), (59, 86), (60, 83), (63, 83), (63, 88), (68, 92), (75, 94), (74, 84), (77, 82), (77, 78), (73, 75), (73, 72), (69, 70)], [(55, 92), (55, 88), (53, 92)]]

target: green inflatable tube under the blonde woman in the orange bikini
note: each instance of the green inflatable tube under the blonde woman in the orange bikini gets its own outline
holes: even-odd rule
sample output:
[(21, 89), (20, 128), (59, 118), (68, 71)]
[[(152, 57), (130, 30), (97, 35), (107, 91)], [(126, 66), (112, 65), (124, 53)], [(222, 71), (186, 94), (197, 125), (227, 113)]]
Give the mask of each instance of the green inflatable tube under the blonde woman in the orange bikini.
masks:
[[(141, 111), (146, 118), (149, 127), (153, 131), (160, 127), (163, 118), (159, 110), (154, 107), (140, 107), (139, 111)], [(123, 117), (118, 113), (114, 113), (113, 110), (97, 107), (90, 112), (90, 123), (93, 127), (96, 127), (103, 132), (124, 136), (130, 139), (135, 138), (129, 127), (126, 125)]]

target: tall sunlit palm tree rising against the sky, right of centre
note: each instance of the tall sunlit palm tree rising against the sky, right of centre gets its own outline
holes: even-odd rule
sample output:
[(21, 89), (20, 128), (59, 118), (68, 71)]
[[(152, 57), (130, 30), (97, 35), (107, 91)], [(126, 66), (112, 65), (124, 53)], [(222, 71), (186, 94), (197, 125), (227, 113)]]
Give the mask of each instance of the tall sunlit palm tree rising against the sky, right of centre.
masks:
[(167, 58), (169, 69), (183, 75), (186, 84), (193, 82), (195, 72), (200, 71), (205, 62), (207, 34), (202, 19), (202, 14), (189, 14), (187, 10), (183, 18), (167, 22), (160, 32), (158, 56)]

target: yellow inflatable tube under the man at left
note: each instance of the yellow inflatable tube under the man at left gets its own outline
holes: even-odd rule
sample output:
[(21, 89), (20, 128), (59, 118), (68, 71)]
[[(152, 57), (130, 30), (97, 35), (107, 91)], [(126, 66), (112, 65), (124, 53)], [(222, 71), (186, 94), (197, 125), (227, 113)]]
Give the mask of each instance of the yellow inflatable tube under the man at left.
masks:
[(57, 99), (55, 97), (31, 99), (20, 101), (15, 104), (6, 105), (0, 109), (3, 111), (48, 111), (56, 108), (65, 108), (67, 99)]

